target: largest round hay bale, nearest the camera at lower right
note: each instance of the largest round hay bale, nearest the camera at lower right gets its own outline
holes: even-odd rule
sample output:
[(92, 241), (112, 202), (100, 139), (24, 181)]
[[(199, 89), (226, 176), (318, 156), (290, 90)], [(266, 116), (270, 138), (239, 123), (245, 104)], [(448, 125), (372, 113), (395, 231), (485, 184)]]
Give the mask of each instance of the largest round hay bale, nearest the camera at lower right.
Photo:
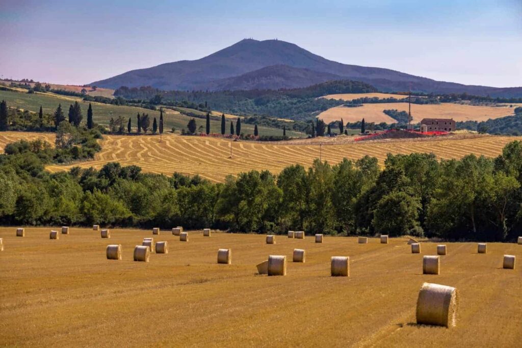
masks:
[(458, 293), (455, 287), (423, 283), (417, 298), (417, 323), (447, 328), (457, 323)]

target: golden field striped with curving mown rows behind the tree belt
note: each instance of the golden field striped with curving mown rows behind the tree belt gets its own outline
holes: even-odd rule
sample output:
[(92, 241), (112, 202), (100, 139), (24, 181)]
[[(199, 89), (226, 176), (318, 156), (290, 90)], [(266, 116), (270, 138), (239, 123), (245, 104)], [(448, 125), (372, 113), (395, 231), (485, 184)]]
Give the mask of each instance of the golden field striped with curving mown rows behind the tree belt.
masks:
[[(343, 158), (359, 159), (364, 155), (376, 157), (383, 164), (386, 154), (433, 152), (439, 158), (461, 158), (474, 153), (496, 157), (504, 146), (520, 137), (483, 136), (470, 139), (400, 140), (389, 142), (350, 142), (342, 145), (321, 147), (323, 160), (340, 162)], [(303, 140), (303, 142), (306, 140)], [(264, 142), (232, 142), (233, 157), (230, 157), (230, 141), (220, 138), (179, 136), (165, 134), (163, 142), (159, 136), (104, 136), (102, 150), (93, 161), (70, 165), (50, 165), (51, 172), (69, 170), (72, 166), (97, 169), (107, 162), (122, 165), (139, 165), (145, 172), (171, 175), (173, 172), (199, 174), (211, 181), (223, 181), (227, 174), (236, 175), (250, 170), (270, 170), (279, 173), (284, 167), (301, 163), (309, 167), (319, 158), (319, 144), (270, 144)]]

